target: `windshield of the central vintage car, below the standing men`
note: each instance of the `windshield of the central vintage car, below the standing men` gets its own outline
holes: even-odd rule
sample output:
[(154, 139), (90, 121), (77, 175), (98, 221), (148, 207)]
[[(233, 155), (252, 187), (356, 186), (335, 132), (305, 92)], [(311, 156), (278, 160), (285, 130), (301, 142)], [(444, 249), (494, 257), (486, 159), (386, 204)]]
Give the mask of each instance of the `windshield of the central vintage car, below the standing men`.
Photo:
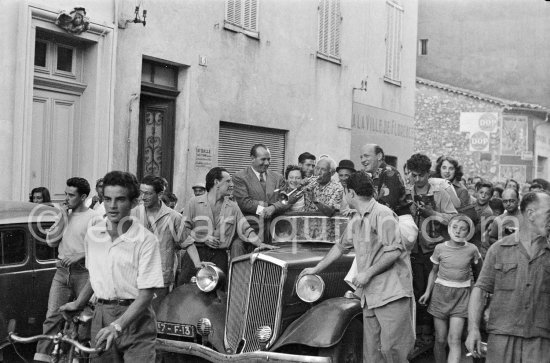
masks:
[(272, 242), (335, 243), (344, 233), (348, 220), (340, 215), (326, 217), (311, 212), (284, 214), (271, 223)]

